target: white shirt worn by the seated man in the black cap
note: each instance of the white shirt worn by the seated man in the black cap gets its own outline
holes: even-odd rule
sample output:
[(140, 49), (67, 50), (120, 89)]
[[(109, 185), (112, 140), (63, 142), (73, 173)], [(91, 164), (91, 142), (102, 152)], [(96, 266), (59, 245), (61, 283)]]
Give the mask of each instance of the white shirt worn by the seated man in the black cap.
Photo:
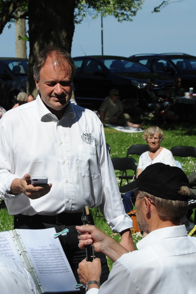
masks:
[(196, 238), (185, 225), (154, 230), (123, 254), (108, 280), (88, 294), (195, 294)]

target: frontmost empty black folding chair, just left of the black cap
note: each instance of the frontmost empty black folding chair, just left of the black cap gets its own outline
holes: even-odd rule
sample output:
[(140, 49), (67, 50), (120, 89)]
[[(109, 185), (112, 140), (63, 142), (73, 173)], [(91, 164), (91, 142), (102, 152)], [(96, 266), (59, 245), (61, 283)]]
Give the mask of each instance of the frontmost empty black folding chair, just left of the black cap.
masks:
[[(120, 187), (122, 184), (122, 180), (126, 179), (128, 183), (128, 179), (134, 180), (137, 171), (137, 162), (134, 158), (131, 157), (114, 157), (112, 158), (112, 164), (114, 170), (122, 171), (122, 176), (119, 176), (121, 179)], [(127, 175), (127, 171), (132, 170), (133, 174), (131, 176)], [(125, 174), (125, 176), (124, 176)]]

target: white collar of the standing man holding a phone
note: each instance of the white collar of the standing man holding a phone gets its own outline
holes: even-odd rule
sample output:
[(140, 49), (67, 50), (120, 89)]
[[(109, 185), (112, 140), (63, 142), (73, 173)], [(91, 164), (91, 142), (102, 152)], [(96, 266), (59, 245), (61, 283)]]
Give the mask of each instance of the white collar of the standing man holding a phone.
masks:
[[(41, 121), (58, 121), (57, 117), (53, 113), (51, 113), (51, 111), (49, 111), (49, 109), (41, 101), (40, 93), (36, 97), (36, 107)], [(69, 115), (71, 116), (71, 119), (76, 116), (73, 104), (71, 102), (68, 103), (67, 109), (61, 119), (66, 118)]]

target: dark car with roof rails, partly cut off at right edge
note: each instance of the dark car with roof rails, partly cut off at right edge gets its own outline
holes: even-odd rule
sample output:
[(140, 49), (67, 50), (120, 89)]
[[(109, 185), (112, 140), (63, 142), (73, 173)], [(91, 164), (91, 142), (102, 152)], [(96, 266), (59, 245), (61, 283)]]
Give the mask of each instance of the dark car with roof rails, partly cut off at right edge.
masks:
[(196, 93), (196, 56), (184, 53), (137, 54), (130, 58), (139, 61), (153, 72), (171, 78), (182, 78), (182, 86)]

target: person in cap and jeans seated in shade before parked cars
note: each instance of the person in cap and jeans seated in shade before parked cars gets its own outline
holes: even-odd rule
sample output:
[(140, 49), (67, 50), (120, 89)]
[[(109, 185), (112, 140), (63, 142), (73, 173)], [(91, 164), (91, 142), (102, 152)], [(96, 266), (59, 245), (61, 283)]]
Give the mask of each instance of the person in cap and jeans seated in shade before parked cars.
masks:
[(147, 81), (147, 85), (146, 85), (146, 90), (147, 90), (147, 103), (148, 103), (148, 107), (154, 111), (154, 121), (156, 122), (158, 119), (158, 115), (160, 111), (164, 111), (163, 113), (163, 122), (165, 123), (165, 119), (168, 116), (168, 112), (170, 110), (171, 107), (171, 103), (169, 103), (168, 101), (164, 101), (162, 98), (158, 98), (157, 96), (155, 96), (155, 93), (153, 91), (153, 88), (157, 87), (157, 85), (155, 84), (155, 81), (152, 78), (149, 78), (149, 80)]

